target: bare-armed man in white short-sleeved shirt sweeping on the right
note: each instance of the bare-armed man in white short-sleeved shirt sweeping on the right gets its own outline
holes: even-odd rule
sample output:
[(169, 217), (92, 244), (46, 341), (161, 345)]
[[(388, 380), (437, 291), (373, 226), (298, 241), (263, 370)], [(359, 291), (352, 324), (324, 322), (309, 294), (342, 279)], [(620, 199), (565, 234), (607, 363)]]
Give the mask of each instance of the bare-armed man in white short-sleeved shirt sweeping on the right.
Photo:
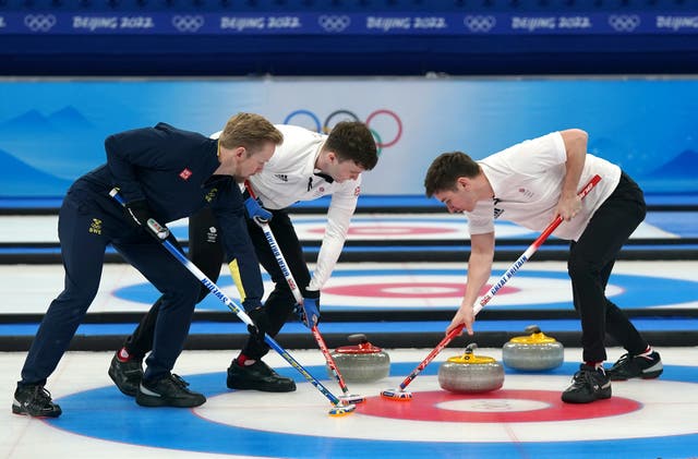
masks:
[[(587, 154), (587, 141), (585, 131), (570, 129), (481, 161), (460, 152), (446, 153), (432, 162), (424, 179), (428, 196), (452, 213), (466, 214), (471, 235), (466, 292), (447, 333), (460, 325), (473, 333), (473, 304), (492, 270), (494, 219), (542, 231), (557, 215), (563, 218), (553, 235), (570, 241), (567, 270), (581, 317), (585, 361), (562, 395), (570, 403), (610, 398), (612, 379), (662, 373), (659, 353), (604, 293), (623, 244), (645, 219), (642, 191), (619, 167)], [(595, 174), (601, 181), (580, 200), (578, 188)], [(606, 333), (628, 351), (607, 372)]]

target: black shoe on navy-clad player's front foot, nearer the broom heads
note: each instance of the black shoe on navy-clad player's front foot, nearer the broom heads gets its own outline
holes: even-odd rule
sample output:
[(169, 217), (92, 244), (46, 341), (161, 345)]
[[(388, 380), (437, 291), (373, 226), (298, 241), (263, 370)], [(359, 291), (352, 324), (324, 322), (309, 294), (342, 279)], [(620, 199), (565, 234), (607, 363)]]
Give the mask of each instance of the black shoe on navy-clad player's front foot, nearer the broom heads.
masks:
[(141, 407), (194, 408), (204, 404), (206, 397), (186, 388), (189, 383), (176, 374), (159, 379), (141, 379), (135, 402)]

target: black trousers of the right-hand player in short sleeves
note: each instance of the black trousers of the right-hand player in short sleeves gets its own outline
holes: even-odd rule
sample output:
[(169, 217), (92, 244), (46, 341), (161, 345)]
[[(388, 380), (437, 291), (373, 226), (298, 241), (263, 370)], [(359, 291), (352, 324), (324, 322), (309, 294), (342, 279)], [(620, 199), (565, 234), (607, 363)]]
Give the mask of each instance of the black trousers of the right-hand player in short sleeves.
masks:
[(585, 362), (606, 360), (606, 334), (633, 354), (647, 349), (647, 341), (625, 313), (605, 297), (616, 257), (645, 214), (642, 191), (624, 172), (613, 194), (594, 213), (579, 240), (569, 246), (567, 271), (575, 309), (581, 317)]

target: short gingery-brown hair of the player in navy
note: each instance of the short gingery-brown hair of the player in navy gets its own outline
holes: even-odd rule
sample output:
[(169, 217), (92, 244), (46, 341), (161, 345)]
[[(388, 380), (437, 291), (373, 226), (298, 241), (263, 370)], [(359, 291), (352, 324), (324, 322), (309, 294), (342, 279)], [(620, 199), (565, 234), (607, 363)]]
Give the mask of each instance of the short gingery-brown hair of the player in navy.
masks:
[(238, 113), (230, 117), (218, 142), (228, 149), (242, 146), (248, 150), (248, 156), (251, 156), (267, 142), (280, 145), (284, 142), (284, 134), (260, 114)]

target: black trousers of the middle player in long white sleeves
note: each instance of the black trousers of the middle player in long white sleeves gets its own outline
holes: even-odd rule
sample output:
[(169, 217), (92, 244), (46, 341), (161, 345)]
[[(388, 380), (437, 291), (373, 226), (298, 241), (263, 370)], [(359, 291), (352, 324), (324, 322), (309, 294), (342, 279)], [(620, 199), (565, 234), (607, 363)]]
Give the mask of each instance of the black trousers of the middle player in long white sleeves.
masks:
[[(205, 210), (205, 212), (204, 212)], [(214, 215), (204, 209), (189, 220), (189, 257), (209, 279), (216, 281), (220, 273), (222, 263), (222, 247), (218, 241), (212, 243), (209, 228), (217, 227)], [(276, 242), (286, 258), (288, 268), (291, 271), (296, 283), (300, 288), (305, 288), (310, 283), (310, 273), (303, 258), (303, 250), (296, 229), (286, 210), (272, 210), (274, 217), (269, 221), (269, 227)], [(264, 269), (272, 276), (275, 283), (274, 291), (267, 298), (264, 307), (269, 317), (269, 336), (275, 337), (296, 305), (296, 299), (279, 268), (278, 262), (272, 253), (269, 243), (264, 237), (262, 229), (253, 221), (248, 220), (248, 231), (254, 244), (257, 258)], [(216, 232), (217, 234), (218, 232)], [(202, 286), (203, 287), (203, 286)], [(208, 289), (203, 288), (198, 301), (208, 294)], [(133, 335), (127, 338), (124, 347), (130, 354), (135, 358), (143, 358), (152, 348), (153, 330), (160, 300), (158, 300), (151, 311), (143, 317), (141, 324)], [(253, 336), (250, 336), (242, 352), (251, 359), (260, 359), (269, 351), (268, 346)]]

